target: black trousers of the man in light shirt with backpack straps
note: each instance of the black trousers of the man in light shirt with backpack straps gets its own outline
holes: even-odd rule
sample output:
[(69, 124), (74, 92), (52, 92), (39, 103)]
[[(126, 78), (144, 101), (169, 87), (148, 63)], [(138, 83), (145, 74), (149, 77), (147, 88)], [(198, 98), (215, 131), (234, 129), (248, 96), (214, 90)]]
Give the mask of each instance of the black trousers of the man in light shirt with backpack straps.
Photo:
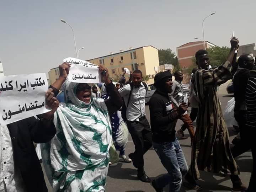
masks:
[(152, 132), (149, 122), (146, 118), (144, 118), (142, 121), (128, 121), (127, 127), (135, 145), (135, 151), (132, 154), (133, 165), (138, 170), (143, 170), (143, 155), (152, 146)]

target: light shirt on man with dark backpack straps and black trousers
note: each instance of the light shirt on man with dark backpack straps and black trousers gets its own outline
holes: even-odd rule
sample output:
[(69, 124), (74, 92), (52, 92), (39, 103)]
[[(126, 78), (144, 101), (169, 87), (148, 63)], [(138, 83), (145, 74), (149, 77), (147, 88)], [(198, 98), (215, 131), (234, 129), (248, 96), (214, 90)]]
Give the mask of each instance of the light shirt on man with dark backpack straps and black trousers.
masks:
[[(130, 84), (120, 88), (118, 91), (120, 95), (124, 98), (124, 102), (127, 106), (129, 94), (130, 94)], [(129, 105), (127, 108), (126, 116), (128, 121), (138, 121), (138, 118), (146, 116), (145, 113), (145, 97), (146, 89), (141, 83), (138, 88), (133, 87)]]

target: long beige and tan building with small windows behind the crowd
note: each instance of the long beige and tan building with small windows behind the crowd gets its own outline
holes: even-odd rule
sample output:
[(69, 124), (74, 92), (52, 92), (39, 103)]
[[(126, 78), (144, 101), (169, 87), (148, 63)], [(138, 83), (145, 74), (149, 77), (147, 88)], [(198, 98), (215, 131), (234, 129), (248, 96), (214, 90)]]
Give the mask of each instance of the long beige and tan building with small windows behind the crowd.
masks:
[(87, 60), (90, 63), (103, 64), (108, 69), (110, 77), (117, 80), (122, 75), (124, 68), (130, 71), (139, 69), (143, 76), (153, 78), (154, 66), (159, 66), (158, 49), (153, 46), (144, 46), (123, 51), (110, 53), (109, 55)]

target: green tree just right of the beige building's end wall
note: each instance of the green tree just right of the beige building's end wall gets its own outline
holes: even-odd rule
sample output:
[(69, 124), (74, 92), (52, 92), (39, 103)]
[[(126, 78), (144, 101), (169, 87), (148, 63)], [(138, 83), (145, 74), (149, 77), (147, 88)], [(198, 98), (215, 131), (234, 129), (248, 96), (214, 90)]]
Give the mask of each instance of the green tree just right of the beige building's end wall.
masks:
[(159, 49), (158, 57), (159, 57), (159, 65), (171, 64), (171, 65), (174, 65), (174, 67), (178, 65), (178, 58), (170, 48)]

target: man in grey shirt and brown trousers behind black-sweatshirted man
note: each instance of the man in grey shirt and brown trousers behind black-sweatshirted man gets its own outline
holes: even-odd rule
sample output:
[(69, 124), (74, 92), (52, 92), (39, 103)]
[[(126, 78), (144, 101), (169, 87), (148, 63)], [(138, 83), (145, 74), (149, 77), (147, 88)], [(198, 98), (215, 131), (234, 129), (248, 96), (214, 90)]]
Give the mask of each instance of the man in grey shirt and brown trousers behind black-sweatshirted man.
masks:
[[(172, 84), (172, 92), (168, 95), (172, 103), (175, 105), (175, 107), (178, 108), (180, 104), (183, 102), (183, 98), (184, 98), (183, 86), (182, 86), (183, 74), (181, 71), (175, 71), (174, 76), (175, 76), (175, 80), (173, 81), (173, 84)], [(191, 145), (192, 145), (193, 138), (194, 138), (193, 123), (187, 113), (180, 116), (180, 119), (183, 121), (185, 126), (183, 126), (182, 129), (177, 130), (177, 133), (180, 136), (180, 138), (186, 139), (186, 137), (184, 136), (184, 131), (188, 129), (188, 132), (190, 133)]]

